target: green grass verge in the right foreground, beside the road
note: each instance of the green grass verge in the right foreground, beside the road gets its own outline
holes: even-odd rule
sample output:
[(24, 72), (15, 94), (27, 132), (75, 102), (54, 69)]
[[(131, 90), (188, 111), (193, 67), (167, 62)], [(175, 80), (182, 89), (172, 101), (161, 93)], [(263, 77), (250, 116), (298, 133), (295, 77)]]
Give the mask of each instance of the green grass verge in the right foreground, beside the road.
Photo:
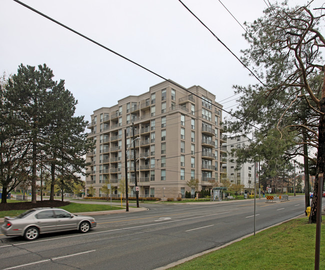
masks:
[[(325, 221), (321, 226), (319, 268), (325, 269)], [(292, 219), (170, 269), (313, 269), (315, 233), (306, 217)]]

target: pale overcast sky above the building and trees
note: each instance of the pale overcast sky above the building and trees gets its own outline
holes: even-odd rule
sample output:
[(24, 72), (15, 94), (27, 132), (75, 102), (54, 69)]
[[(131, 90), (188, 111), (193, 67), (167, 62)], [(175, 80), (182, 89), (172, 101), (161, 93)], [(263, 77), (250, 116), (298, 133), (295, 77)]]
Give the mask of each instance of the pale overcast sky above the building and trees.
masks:
[[(262, 16), (265, 1), (221, 2), (243, 24)], [(202, 86), (226, 110), (235, 105), (235, 97), (228, 98), (233, 84), (257, 82), (178, 0), (22, 2), (182, 86)], [(247, 47), (244, 30), (218, 0), (183, 3), (240, 56), (240, 49)], [(313, 5), (321, 4), (323, 0), (315, 0)], [(13, 0), (0, 0), (0, 35), (0, 73), (16, 73), (20, 63), (46, 63), (56, 80), (65, 80), (65, 88), (78, 100), (76, 115), (86, 120), (93, 110), (162, 81)]]

